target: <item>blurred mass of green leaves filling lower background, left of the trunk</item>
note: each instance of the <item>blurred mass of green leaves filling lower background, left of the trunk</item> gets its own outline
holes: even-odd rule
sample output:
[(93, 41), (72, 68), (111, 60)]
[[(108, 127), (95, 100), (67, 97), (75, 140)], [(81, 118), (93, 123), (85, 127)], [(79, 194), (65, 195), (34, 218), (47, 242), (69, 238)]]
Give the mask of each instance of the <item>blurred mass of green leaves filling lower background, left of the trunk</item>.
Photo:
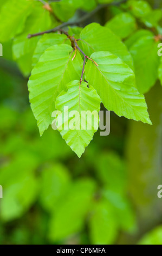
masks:
[[(40, 227), (31, 234), (25, 221), (33, 215), (40, 218), (38, 225), (44, 223), (41, 235), (48, 243), (73, 237), (83, 242), (87, 229), (87, 242), (112, 243), (120, 229), (134, 230), (125, 163), (118, 153), (98, 153), (98, 144), (93, 143), (80, 161), (59, 132), (49, 130), (40, 138), (28, 107), (20, 112), (1, 105), (1, 243), (16, 243), (15, 235), (8, 240), (4, 232), (8, 225), (16, 232), (17, 221), (30, 237), (25, 243), (35, 243), (36, 234), (42, 243)], [(18, 226), (21, 233), (22, 225)]]

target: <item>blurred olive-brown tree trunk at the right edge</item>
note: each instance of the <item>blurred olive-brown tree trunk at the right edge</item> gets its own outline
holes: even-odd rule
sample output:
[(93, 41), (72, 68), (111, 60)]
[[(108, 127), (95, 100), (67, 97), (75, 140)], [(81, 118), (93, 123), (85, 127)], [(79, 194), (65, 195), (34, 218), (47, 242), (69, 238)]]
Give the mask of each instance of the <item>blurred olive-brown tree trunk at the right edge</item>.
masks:
[(162, 223), (162, 87), (157, 83), (146, 94), (153, 126), (131, 121), (126, 143), (129, 194), (137, 210), (138, 237)]

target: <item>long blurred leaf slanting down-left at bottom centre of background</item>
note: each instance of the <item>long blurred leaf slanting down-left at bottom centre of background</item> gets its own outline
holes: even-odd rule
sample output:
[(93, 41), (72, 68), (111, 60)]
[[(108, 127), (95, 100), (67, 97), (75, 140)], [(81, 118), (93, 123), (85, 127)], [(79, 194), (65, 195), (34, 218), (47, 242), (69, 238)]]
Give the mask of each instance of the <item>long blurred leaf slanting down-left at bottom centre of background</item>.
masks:
[(86, 214), (95, 192), (95, 183), (90, 179), (75, 181), (49, 224), (51, 241), (66, 239), (82, 231)]

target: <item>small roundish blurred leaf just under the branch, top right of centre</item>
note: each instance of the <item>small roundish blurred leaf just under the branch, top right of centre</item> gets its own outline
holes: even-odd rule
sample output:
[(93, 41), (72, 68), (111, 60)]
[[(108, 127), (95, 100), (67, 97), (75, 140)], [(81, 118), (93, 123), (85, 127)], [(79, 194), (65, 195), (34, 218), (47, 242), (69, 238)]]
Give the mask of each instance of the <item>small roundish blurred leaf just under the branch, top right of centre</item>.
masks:
[(126, 38), (132, 34), (137, 25), (134, 17), (128, 13), (121, 13), (113, 17), (112, 20), (108, 21), (105, 25), (111, 29), (120, 38)]

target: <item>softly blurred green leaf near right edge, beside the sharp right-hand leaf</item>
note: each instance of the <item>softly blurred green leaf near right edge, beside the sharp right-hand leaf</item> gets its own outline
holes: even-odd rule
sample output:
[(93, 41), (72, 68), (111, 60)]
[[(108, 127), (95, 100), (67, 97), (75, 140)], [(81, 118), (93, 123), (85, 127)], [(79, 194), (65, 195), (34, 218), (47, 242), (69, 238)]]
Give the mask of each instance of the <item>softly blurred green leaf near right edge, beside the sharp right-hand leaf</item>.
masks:
[(137, 88), (140, 93), (147, 93), (158, 78), (158, 42), (155, 42), (153, 34), (144, 36), (129, 51), (134, 61)]

